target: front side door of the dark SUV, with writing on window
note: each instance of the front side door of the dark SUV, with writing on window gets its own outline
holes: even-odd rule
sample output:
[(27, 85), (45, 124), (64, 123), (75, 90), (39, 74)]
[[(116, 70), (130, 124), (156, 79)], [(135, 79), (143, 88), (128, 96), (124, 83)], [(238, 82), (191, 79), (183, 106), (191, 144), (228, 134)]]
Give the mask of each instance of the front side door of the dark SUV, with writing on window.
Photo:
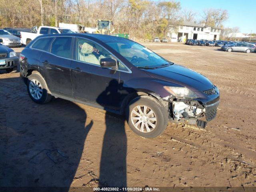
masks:
[(113, 58), (104, 48), (84, 38), (76, 38), (71, 79), (77, 100), (118, 110), (120, 71), (101, 68), (101, 58)]

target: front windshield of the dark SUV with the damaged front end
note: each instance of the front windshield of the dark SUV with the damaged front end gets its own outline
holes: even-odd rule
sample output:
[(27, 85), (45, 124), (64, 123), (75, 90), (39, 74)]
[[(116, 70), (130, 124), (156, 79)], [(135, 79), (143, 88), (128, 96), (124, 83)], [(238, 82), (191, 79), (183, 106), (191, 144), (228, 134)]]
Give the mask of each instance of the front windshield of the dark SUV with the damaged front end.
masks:
[(136, 42), (107, 42), (106, 44), (138, 68), (159, 68), (173, 64)]

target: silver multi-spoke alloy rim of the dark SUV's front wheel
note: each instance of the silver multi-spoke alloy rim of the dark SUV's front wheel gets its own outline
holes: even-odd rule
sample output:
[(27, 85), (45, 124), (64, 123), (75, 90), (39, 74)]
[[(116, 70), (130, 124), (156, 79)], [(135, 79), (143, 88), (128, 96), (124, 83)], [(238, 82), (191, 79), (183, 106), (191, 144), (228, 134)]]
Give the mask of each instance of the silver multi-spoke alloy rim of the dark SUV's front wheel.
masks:
[(156, 114), (146, 105), (134, 107), (131, 112), (131, 120), (133, 126), (143, 133), (152, 132), (156, 128)]

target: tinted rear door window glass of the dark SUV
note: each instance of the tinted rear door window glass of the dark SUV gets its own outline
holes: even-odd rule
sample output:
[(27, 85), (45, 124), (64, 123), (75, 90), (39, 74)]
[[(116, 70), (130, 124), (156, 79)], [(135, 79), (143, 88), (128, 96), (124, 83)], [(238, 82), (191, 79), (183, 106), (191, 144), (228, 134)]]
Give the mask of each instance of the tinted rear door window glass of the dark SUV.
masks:
[(52, 42), (51, 53), (64, 58), (72, 58), (71, 43), (72, 37), (57, 37)]

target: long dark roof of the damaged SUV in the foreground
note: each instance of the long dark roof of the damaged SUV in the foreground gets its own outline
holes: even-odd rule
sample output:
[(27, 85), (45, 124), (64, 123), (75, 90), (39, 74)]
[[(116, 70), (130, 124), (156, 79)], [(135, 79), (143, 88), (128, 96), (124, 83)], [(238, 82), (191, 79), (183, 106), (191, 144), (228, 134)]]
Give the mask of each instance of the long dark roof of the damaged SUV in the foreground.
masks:
[[(90, 33), (62, 33), (62, 34), (48, 34), (48, 35), (43, 35), (45, 37), (47, 36), (75, 36), (75, 37), (84, 37), (88, 38), (91, 40), (99, 40), (101, 42), (107, 43), (107, 42), (131, 42), (131, 40), (122, 38), (122, 37), (117, 37), (117, 36), (112, 36), (112, 35), (102, 35), (102, 34), (90, 34)], [(39, 36), (40, 37), (40, 36)], [(42, 37), (42, 36), (41, 36)]]

